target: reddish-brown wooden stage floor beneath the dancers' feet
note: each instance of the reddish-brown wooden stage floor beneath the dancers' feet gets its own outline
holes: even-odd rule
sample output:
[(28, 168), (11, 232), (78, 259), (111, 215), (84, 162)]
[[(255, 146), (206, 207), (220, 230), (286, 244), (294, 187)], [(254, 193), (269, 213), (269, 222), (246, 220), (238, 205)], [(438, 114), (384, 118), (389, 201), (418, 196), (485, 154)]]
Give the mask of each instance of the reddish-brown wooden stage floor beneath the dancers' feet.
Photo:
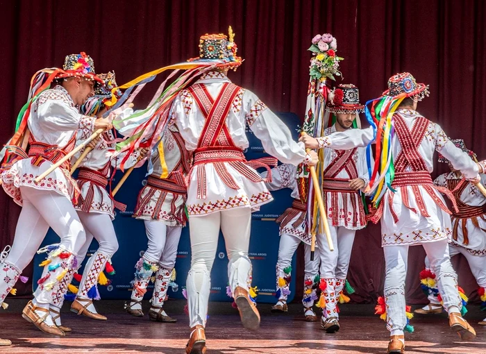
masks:
[[(45, 335), (21, 317), (26, 299), (8, 298), (8, 310), (0, 312), (0, 337), (12, 346), (0, 353), (185, 353), (189, 335), (183, 301), (169, 301), (167, 312), (177, 323), (157, 323), (145, 317), (132, 317), (123, 310), (124, 301), (99, 301), (99, 312), (108, 321), (94, 321), (62, 309), (62, 323), (73, 332), (58, 338)], [(146, 306), (148, 306), (148, 301)], [(291, 304), (287, 314), (271, 314), (269, 304), (258, 305), (262, 326), (258, 332), (242, 328), (231, 303), (210, 303), (206, 337), (208, 354), (229, 353), (385, 353), (385, 322), (373, 314), (371, 305), (342, 305), (341, 330), (326, 334), (319, 322), (303, 321), (301, 305)], [(148, 308), (146, 309), (148, 310)], [(405, 335), (406, 353), (486, 353), (486, 328), (477, 305), (469, 306), (467, 319), (478, 333), (474, 342), (460, 342), (449, 329), (446, 314), (417, 315), (412, 319), (415, 332)]]

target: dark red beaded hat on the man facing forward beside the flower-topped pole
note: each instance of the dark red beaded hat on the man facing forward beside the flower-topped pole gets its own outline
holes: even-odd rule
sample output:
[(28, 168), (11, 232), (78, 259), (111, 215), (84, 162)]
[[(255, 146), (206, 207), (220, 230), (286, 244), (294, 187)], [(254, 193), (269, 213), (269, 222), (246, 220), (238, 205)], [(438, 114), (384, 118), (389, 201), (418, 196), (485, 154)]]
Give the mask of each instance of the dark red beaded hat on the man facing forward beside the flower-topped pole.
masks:
[(351, 83), (335, 87), (329, 94), (328, 110), (331, 113), (364, 112), (358, 87)]

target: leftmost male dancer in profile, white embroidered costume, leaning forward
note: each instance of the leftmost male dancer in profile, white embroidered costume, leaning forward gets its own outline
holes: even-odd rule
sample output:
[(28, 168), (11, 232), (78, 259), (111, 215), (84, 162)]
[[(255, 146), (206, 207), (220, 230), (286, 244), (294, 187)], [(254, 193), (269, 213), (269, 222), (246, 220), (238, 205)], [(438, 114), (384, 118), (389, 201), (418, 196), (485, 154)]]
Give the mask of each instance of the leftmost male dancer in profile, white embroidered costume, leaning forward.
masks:
[[(44, 332), (63, 336), (65, 332), (51, 318), (49, 303), (64, 296), (59, 289), (60, 281), (77, 267), (76, 255), (85, 243), (85, 230), (73, 206), (80, 193), (76, 181), (69, 176), (69, 162), (39, 183), (35, 183), (35, 178), (74, 148), (78, 129), (92, 133), (98, 128), (111, 128), (111, 124), (108, 119), (81, 115), (76, 108), (94, 94), (95, 81), (103, 85), (94, 74), (89, 56), (85, 53), (67, 56), (63, 70), (54, 71), (48, 80), (53, 76), (60, 79), (59, 84), (37, 96), (31, 103), (30, 115), (26, 116), (30, 130), (28, 155), (17, 150), (15, 163), (3, 165), (2, 187), (22, 205), (22, 212), (10, 254), (0, 267), (0, 301), (3, 302), (22, 269), (31, 262), (50, 226), (60, 236), (60, 244), (41, 250), (49, 255), (41, 263), (44, 271), (37, 282), (35, 298), (28, 302), (22, 316)], [(34, 83), (37, 78), (40, 76), (35, 77)]]

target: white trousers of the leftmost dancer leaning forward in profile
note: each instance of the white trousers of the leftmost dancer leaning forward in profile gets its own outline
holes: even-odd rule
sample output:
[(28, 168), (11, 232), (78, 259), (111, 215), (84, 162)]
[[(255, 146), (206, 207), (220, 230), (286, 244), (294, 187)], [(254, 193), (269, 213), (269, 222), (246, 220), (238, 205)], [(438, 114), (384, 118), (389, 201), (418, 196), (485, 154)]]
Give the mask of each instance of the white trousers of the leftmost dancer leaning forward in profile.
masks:
[[(56, 192), (32, 187), (20, 187), (24, 205), (20, 212), (15, 239), (10, 254), (5, 262), (13, 264), (19, 271), (22, 271), (33, 259), (42, 240), (49, 230), (49, 226), (60, 237), (60, 248), (76, 256), (85, 243), (86, 234), (81, 221), (74, 210), (72, 202), (65, 196)], [(51, 283), (62, 273), (63, 270), (71, 270), (72, 256), (64, 258), (62, 267), (50, 271)], [(51, 260), (51, 265), (60, 262), (56, 257)], [(44, 267), (42, 278), (49, 272), (48, 266)], [(0, 276), (0, 278), (3, 278)], [(49, 287), (39, 286), (34, 293), (39, 303), (51, 303), (53, 296), (58, 296), (57, 285)], [(5, 289), (3, 282), (0, 283), (0, 294)], [(63, 294), (62, 294), (63, 296)]]

